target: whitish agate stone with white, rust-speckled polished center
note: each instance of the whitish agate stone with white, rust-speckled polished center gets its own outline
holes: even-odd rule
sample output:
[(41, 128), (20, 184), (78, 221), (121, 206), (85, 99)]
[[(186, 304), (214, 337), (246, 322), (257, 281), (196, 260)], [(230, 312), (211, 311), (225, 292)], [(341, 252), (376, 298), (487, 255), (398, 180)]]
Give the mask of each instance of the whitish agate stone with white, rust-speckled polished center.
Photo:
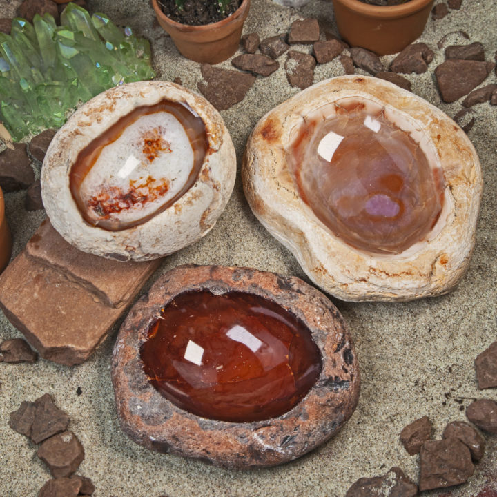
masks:
[(166, 81), (117, 86), (55, 135), (41, 190), (78, 249), (117, 260), (168, 255), (206, 235), (233, 190), (236, 157), (217, 110)]

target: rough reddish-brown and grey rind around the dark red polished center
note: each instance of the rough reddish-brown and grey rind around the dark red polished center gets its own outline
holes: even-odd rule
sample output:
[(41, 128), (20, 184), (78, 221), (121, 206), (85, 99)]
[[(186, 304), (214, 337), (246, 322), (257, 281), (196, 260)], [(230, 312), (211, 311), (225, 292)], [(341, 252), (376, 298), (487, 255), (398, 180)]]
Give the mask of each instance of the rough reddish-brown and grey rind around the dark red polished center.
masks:
[[(203, 276), (204, 278), (206, 275), (210, 275), (210, 277), (204, 281), (197, 280), (197, 282), (183, 283), (184, 278), (182, 273), (198, 274), (199, 277)], [(274, 288), (279, 287), (277, 294), (273, 293), (271, 289), (264, 289), (261, 286), (258, 286), (258, 284), (251, 283), (251, 277), (254, 275), (255, 277), (269, 278), (271, 283), (274, 284)], [(233, 284), (228, 284), (225, 281), (229, 277), (233, 277)], [(235, 280), (236, 278), (240, 279)], [(171, 289), (168, 285), (171, 285), (172, 280), (176, 281), (173, 281), (173, 288)], [(168, 291), (168, 289), (170, 291)], [(304, 396), (304, 398), (290, 411), (287, 411), (276, 418), (255, 422), (228, 422), (202, 418), (201, 416), (197, 416), (177, 407), (173, 402), (164, 398), (164, 396), (148, 382), (141, 367), (142, 361), (139, 357), (139, 350), (147, 338), (149, 327), (157, 320), (157, 317), (160, 315), (162, 309), (164, 309), (164, 306), (175, 298), (175, 296), (187, 291), (202, 291), (206, 289), (215, 294), (227, 293), (228, 291), (241, 291), (272, 300), (276, 304), (282, 306), (283, 309), (286, 309), (297, 316), (302, 320), (307, 329), (309, 329), (313, 342), (315, 342), (320, 351), (322, 370), (320, 371), (318, 380), (306, 393), (306, 396)], [(322, 312), (327, 318), (330, 318), (330, 322), (326, 321), (326, 324), (322, 325), (321, 328), (316, 327), (315, 323), (313, 324), (311, 322), (312, 316), (310, 319), (300, 307), (292, 306), (290, 308), (288, 302), (286, 304), (283, 302), (286, 298), (289, 298), (288, 295), (292, 295), (291, 298), (295, 300), (295, 302), (292, 303), (298, 303), (300, 305), (307, 303), (313, 305), (313, 301), (315, 301), (317, 302), (315, 305), (321, 304), (323, 306)], [(139, 313), (142, 313), (142, 318), (137, 320), (137, 315), (139, 315)], [(317, 319), (320, 320), (320, 317), (318, 316)], [(137, 327), (137, 322), (139, 322), (139, 327)], [(339, 331), (336, 331), (335, 327), (338, 327)], [(327, 328), (331, 329), (331, 332), (326, 331)], [(340, 338), (340, 340), (337, 340), (338, 338)], [(346, 380), (347, 388), (342, 388), (340, 386), (340, 379), (337, 379), (337, 371), (333, 369), (333, 362), (335, 361), (331, 358), (329, 351), (332, 351), (333, 354), (340, 353), (342, 356), (346, 351), (351, 351), (352, 353), (350, 364), (347, 362), (347, 368), (351, 371), (351, 377), (349, 380)], [(129, 387), (129, 385), (124, 386), (125, 382), (129, 382), (128, 376), (124, 373), (125, 369), (127, 371), (139, 371), (138, 374), (140, 378), (137, 380), (139, 386), (134, 389), (134, 393), (136, 394), (136, 392), (139, 391), (139, 394), (142, 396), (139, 399), (142, 404), (139, 407), (140, 416), (131, 412), (133, 410), (131, 405), (133, 402), (130, 402), (130, 398), (123, 398), (122, 396), (123, 389), (132, 390), (132, 387)], [(333, 373), (335, 373), (334, 376)], [(333, 303), (329, 301), (325, 295), (297, 277), (283, 277), (276, 273), (268, 273), (256, 269), (226, 266), (179, 266), (160, 277), (151, 287), (148, 296), (142, 297), (135, 306), (133, 306), (133, 309), (131, 309), (128, 317), (121, 326), (113, 351), (112, 378), (115, 389), (115, 402), (119, 412), (119, 421), (121, 422), (122, 429), (130, 438), (132, 438), (132, 440), (140, 445), (144, 445), (148, 449), (200, 458), (212, 462), (215, 465), (235, 468), (269, 467), (281, 464), (282, 462), (287, 462), (300, 457), (306, 454), (306, 452), (318, 447), (318, 445), (338, 432), (342, 427), (342, 424), (350, 418), (358, 403), (360, 391), (358, 361), (347, 324), (344, 322), (338, 309), (335, 308)], [(334, 408), (328, 407), (327, 404), (327, 402), (331, 401), (333, 398), (338, 400), (339, 405), (345, 405), (345, 412), (337, 422), (331, 420), (331, 411), (333, 411)], [(314, 413), (309, 415), (309, 413), (306, 412), (309, 402), (317, 402), (320, 409), (314, 409)], [(145, 403), (148, 403), (148, 405), (161, 405), (167, 407), (168, 411), (170, 411), (170, 417), (175, 420), (175, 424), (184, 422), (184, 425), (190, 427), (190, 429), (196, 424), (201, 427), (202, 430), (208, 432), (209, 436), (213, 433), (217, 433), (218, 435), (222, 434), (225, 438), (227, 437), (230, 442), (226, 443), (226, 448), (223, 447), (222, 449), (219, 449), (218, 447), (218, 450), (222, 452), (222, 454), (218, 454), (217, 456), (198, 454), (197, 451), (183, 449), (181, 447), (181, 441), (171, 440), (170, 434), (162, 431), (162, 425), (150, 425), (143, 422), (143, 420), (138, 419), (141, 417), (141, 413), (145, 411), (143, 406)], [(240, 435), (242, 435), (243, 438), (244, 436), (249, 436), (250, 433), (257, 429), (278, 427), (282, 422), (286, 422), (287, 420), (306, 417), (308, 419), (304, 421), (305, 427), (300, 427), (299, 429), (299, 435), (302, 438), (307, 438), (312, 435), (316, 426), (319, 428), (327, 422), (332, 425), (333, 429), (328, 430), (329, 433), (325, 433), (324, 436), (320, 438), (319, 442), (313, 443), (311, 440), (309, 445), (306, 444), (305, 449), (298, 451), (298, 454), (296, 455), (291, 454), (291, 456), (288, 456), (275, 451), (275, 454), (271, 454), (272, 457), (269, 461), (264, 460), (261, 455), (258, 455), (255, 458), (255, 462), (245, 464), (244, 460), (237, 460), (239, 454), (230, 448), (233, 440), (239, 438)], [(309, 420), (311, 420), (311, 422), (309, 422)], [(309, 433), (305, 432), (306, 429)], [(283, 438), (288, 434), (289, 433), (282, 432)], [(262, 447), (261, 454), (266, 450), (266, 448)]]

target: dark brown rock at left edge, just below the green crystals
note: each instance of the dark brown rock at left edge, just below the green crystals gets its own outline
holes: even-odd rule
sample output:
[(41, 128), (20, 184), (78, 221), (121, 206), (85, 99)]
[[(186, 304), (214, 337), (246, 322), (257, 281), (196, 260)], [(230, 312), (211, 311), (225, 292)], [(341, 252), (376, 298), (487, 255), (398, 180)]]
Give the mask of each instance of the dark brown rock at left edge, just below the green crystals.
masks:
[(23, 190), (35, 181), (35, 173), (26, 153), (26, 144), (14, 144), (14, 150), (0, 153), (0, 186), (4, 192)]

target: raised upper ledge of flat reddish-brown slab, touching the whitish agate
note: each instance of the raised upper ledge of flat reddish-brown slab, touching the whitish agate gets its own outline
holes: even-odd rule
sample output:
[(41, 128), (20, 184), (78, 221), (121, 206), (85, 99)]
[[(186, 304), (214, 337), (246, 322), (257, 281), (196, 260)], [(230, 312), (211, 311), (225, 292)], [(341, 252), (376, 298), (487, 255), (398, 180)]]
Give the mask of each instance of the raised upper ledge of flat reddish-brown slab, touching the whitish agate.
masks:
[(26, 254), (80, 284), (94, 300), (115, 309), (123, 309), (133, 300), (161, 262), (119, 262), (81, 252), (68, 244), (48, 219), (26, 244)]

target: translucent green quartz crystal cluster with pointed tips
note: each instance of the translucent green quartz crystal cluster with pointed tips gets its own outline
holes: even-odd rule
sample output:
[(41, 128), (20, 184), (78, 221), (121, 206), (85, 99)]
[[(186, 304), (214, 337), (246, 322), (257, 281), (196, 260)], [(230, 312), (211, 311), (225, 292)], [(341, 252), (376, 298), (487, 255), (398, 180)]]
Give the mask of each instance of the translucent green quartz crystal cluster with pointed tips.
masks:
[(0, 120), (15, 141), (60, 128), (80, 101), (154, 76), (146, 39), (74, 3), (61, 26), (36, 14), (32, 24), (13, 19), (10, 36), (0, 32)]

